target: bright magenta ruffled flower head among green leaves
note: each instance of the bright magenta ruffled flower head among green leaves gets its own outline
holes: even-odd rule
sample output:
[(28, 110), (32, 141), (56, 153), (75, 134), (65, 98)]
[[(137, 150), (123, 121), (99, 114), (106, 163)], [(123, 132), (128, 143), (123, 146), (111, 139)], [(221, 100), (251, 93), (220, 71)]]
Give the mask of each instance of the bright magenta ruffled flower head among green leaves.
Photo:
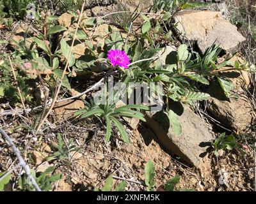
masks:
[(131, 64), (129, 57), (122, 50), (109, 50), (108, 59), (110, 60), (113, 66), (118, 65), (122, 68), (128, 68), (128, 65)]

